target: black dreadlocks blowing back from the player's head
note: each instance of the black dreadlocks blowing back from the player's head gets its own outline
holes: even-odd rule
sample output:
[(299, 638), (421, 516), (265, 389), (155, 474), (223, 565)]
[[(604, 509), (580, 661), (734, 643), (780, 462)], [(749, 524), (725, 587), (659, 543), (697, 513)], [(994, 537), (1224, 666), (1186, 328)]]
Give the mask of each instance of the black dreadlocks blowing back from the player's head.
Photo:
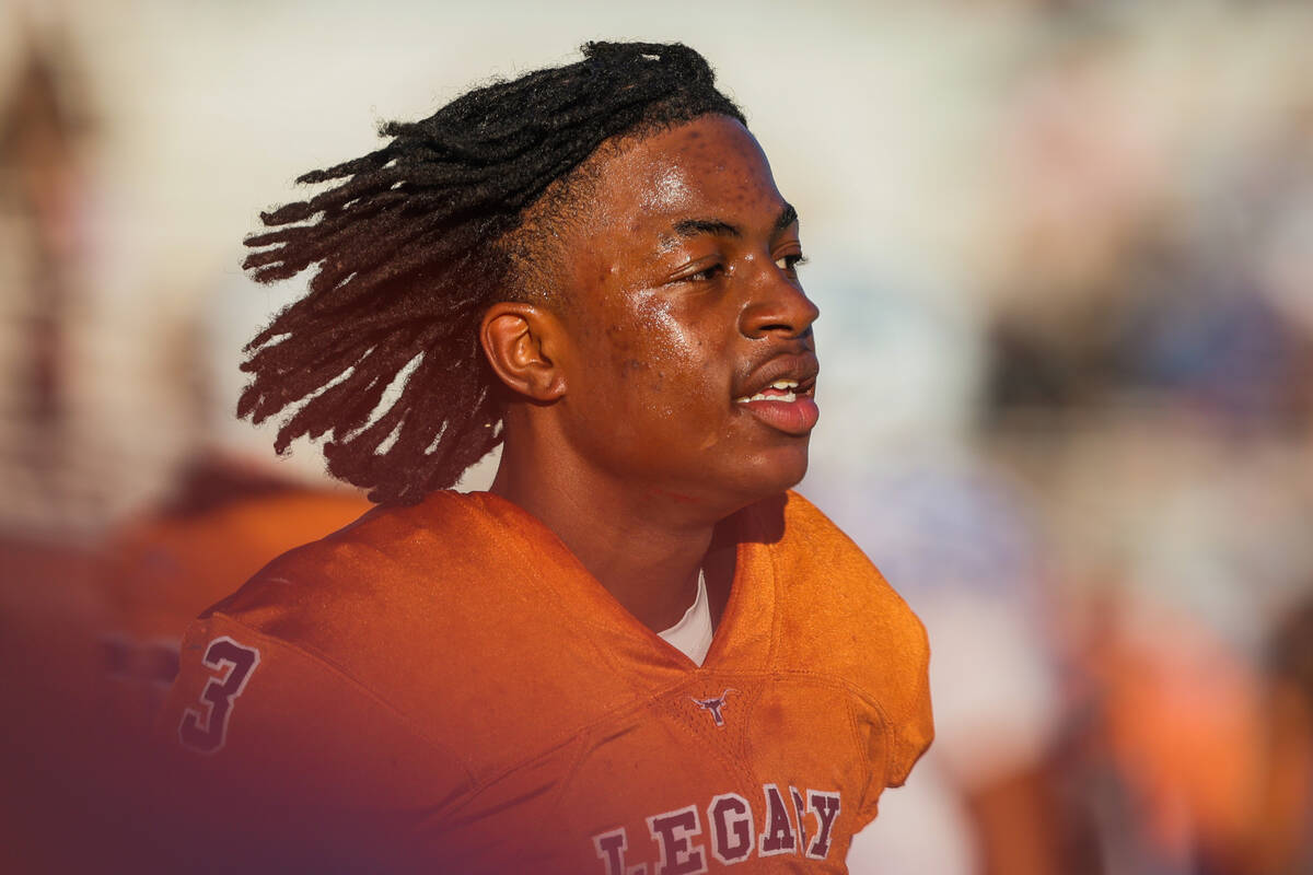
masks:
[(743, 122), (714, 79), (680, 43), (590, 42), (580, 62), (385, 123), (381, 150), (301, 176), (334, 185), (261, 213), (273, 230), (247, 237), (243, 266), (260, 282), (314, 273), (246, 346), (238, 416), (285, 413), (280, 454), (327, 434), (328, 471), (373, 501), (414, 504), (454, 484), (503, 439), (506, 396), (478, 325), (498, 300), (532, 299), (524, 278), (541, 249), (524, 237), (550, 228), (527, 222), (530, 207), (559, 206), (612, 138), (712, 113)]

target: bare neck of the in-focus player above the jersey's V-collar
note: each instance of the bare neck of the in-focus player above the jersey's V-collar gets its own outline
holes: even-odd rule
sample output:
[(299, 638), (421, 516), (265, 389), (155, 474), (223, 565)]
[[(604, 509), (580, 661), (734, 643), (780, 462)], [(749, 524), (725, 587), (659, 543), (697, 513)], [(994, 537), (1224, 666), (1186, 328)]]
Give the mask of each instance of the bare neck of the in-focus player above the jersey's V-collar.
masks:
[[(697, 572), (718, 521), (714, 516), (692, 513), (678, 497), (632, 481), (614, 483), (587, 468), (534, 463), (509, 441), (490, 491), (551, 529), (616, 601), (653, 631), (674, 626), (693, 602)], [(708, 569), (713, 619), (727, 598), (727, 579), (716, 571)]]

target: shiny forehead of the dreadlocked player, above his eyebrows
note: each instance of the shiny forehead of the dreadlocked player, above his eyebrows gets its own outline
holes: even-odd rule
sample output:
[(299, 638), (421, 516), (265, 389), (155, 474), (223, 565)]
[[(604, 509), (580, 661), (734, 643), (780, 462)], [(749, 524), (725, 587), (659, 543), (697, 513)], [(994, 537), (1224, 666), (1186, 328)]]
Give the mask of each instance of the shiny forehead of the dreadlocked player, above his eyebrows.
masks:
[(596, 231), (660, 232), (685, 218), (771, 224), (784, 198), (756, 139), (738, 121), (704, 115), (601, 159), (593, 188)]

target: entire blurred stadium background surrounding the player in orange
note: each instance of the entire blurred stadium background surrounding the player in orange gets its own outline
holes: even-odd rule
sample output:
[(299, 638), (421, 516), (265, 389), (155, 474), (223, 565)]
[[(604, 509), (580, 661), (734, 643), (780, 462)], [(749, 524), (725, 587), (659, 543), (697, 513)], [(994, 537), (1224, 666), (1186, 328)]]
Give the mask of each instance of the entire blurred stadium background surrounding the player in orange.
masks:
[(802, 215), (801, 489), (930, 630), (939, 737), (852, 871), (1313, 872), (1313, 7), (5, 3), (9, 871), (130, 871), (104, 788), (188, 618), (368, 506), (232, 417), (298, 291), (242, 275), (256, 213), (637, 38), (716, 64)]

